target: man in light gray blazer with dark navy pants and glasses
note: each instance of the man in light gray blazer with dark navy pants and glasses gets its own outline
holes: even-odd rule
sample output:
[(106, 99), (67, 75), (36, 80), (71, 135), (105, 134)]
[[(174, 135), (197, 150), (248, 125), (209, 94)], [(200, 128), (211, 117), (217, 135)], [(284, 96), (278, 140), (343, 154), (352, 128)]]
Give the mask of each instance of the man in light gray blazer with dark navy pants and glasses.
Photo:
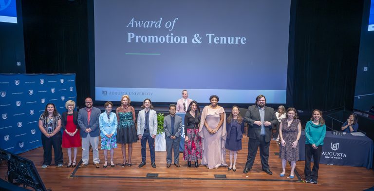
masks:
[(142, 108), (144, 109), (138, 113), (137, 122), (137, 133), (142, 146), (142, 162), (139, 164), (139, 168), (146, 165), (147, 141), (150, 147), (150, 162), (152, 167), (156, 168), (156, 163), (154, 162), (154, 137), (157, 134), (157, 114), (156, 111), (152, 110), (153, 106), (149, 98), (143, 101)]

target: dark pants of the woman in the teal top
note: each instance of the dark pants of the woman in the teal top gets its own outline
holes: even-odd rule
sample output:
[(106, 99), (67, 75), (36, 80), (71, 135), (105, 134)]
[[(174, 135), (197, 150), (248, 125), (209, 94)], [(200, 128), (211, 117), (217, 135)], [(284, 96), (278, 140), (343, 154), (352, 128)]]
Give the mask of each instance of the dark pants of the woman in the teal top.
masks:
[[(319, 145), (317, 149), (314, 149), (311, 144), (305, 145), (305, 168), (304, 174), (305, 179), (318, 179), (319, 159), (321, 158), (322, 145)], [(313, 155), (313, 169), (310, 171), (310, 162)]]

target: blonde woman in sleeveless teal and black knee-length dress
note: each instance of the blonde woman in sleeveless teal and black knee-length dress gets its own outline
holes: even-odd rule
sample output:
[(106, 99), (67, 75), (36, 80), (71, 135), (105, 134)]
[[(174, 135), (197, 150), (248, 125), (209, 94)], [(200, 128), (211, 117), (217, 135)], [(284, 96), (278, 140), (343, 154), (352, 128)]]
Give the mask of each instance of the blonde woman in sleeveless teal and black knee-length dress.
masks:
[[(115, 110), (118, 120), (117, 142), (122, 144), (123, 163), (122, 167), (131, 166), (132, 143), (138, 141), (135, 128), (135, 110), (130, 106), (131, 100), (128, 95), (121, 98), (121, 106)], [(126, 160), (126, 144), (129, 147), (129, 159)]]

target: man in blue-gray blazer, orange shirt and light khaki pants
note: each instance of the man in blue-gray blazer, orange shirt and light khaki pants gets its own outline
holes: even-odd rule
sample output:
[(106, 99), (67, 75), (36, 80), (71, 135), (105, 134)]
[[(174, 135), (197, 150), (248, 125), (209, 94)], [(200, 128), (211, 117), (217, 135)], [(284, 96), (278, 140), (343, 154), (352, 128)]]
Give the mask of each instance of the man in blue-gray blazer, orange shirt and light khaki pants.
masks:
[(78, 125), (80, 127), (80, 136), (82, 137), (82, 164), (78, 168), (85, 168), (88, 165), (90, 156), (90, 145), (93, 149), (93, 164), (99, 168), (99, 116), (100, 109), (93, 107), (93, 101), (90, 97), (85, 100), (86, 107), (78, 112)]

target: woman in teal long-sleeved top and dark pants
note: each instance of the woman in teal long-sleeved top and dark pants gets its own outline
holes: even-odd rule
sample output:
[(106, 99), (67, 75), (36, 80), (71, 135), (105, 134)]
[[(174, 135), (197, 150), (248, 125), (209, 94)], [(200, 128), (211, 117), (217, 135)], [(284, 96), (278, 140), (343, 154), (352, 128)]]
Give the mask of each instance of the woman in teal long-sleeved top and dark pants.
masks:
[[(318, 184), (319, 159), (321, 158), (323, 139), (326, 135), (325, 120), (322, 112), (314, 110), (312, 118), (305, 125), (305, 182)], [(313, 169), (310, 162), (313, 156)]]

